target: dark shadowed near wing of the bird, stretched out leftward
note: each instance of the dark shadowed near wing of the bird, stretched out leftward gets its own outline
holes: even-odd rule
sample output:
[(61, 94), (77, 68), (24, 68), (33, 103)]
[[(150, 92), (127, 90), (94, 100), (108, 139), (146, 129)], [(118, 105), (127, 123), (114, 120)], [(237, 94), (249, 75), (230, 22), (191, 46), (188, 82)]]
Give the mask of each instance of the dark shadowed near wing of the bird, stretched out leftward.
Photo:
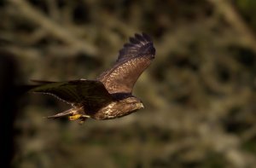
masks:
[(113, 101), (102, 82), (96, 80), (73, 80), (68, 82), (42, 82), (32, 92), (49, 94), (70, 104), (83, 104), (85, 107), (102, 107)]

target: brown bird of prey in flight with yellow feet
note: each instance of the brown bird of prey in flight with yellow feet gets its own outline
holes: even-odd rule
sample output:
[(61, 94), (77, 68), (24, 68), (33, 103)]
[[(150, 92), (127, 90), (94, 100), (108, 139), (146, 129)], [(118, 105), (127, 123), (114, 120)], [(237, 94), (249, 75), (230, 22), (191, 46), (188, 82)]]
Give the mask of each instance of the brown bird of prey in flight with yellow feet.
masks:
[(65, 112), (49, 116), (69, 120), (115, 119), (143, 108), (143, 102), (132, 95), (137, 78), (150, 65), (155, 55), (152, 39), (147, 34), (135, 34), (119, 50), (113, 67), (96, 80), (79, 79), (67, 82), (36, 81), (32, 92), (49, 94), (72, 105)]

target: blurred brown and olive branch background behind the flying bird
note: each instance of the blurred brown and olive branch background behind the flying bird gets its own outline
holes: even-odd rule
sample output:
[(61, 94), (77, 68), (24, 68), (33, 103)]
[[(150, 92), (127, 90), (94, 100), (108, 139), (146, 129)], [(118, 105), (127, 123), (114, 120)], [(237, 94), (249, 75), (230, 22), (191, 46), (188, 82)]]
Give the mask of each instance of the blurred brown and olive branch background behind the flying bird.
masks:
[[(1, 1), (3, 163), (255, 167), (255, 15), (254, 0)], [(96, 78), (136, 32), (156, 48), (134, 89), (145, 106), (137, 113), (48, 120), (68, 106), (15, 90), (30, 79)]]

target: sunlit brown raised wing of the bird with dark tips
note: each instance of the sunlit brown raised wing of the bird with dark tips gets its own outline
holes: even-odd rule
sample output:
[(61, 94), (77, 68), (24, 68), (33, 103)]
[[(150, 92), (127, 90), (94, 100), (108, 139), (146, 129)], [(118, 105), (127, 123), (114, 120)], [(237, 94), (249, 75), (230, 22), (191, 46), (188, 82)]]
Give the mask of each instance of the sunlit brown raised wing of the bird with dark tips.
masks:
[(135, 34), (130, 43), (125, 43), (113, 67), (103, 72), (98, 80), (109, 93), (131, 93), (137, 78), (154, 59), (155, 49), (146, 34)]

